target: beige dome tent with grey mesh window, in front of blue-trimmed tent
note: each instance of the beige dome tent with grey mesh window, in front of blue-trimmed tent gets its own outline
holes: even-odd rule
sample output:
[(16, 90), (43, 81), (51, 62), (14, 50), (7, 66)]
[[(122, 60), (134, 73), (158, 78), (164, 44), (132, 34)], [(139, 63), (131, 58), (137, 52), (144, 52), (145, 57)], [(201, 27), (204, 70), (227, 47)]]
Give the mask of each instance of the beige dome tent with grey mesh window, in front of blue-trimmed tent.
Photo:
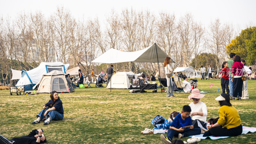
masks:
[(59, 70), (53, 70), (44, 74), (41, 81), (37, 83), (33, 89), (37, 88), (37, 93), (56, 92), (75, 92), (68, 74)]

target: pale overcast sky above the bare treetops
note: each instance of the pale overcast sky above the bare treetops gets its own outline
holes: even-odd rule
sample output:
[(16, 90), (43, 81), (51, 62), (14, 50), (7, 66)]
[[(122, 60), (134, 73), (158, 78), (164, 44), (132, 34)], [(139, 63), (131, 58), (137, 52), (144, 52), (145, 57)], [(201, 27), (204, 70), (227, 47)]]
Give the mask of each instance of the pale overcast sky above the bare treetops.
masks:
[(150, 10), (155, 14), (174, 13), (178, 19), (186, 12), (191, 12), (195, 20), (202, 22), (205, 27), (217, 18), (222, 23), (232, 23), (240, 29), (245, 29), (249, 23), (256, 25), (256, 0), (0, 0), (0, 16), (15, 18), (22, 11), (41, 11), (48, 17), (56, 11), (57, 6), (69, 9), (75, 18), (84, 16), (85, 19), (93, 19), (98, 16), (102, 24), (112, 8), (121, 13), (125, 8), (132, 7), (136, 11)]

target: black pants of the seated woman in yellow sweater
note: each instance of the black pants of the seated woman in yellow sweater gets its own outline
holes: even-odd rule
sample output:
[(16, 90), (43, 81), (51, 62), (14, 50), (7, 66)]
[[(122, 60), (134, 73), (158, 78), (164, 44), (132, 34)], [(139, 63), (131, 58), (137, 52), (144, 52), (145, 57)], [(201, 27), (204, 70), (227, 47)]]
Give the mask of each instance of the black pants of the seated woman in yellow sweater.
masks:
[(243, 128), (242, 128), (242, 125), (239, 125), (237, 127), (231, 128), (231, 129), (227, 129), (225, 127), (224, 128), (213, 127), (207, 132), (210, 132), (208, 134), (211, 134), (214, 136), (238, 136), (238, 135), (242, 134)]

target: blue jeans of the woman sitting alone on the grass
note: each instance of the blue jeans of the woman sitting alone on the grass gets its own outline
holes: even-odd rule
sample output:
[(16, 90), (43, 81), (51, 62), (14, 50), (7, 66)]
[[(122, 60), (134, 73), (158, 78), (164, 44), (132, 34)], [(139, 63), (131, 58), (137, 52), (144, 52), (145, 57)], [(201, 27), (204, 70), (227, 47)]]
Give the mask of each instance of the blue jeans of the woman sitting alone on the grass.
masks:
[[(44, 118), (44, 113), (45, 111), (48, 110), (47, 108), (41, 110), (37, 115), (36, 115), (36, 118), (40, 117), (40, 120), (42, 120)], [(50, 116), (51, 118), (51, 121), (52, 120), (56, 120), (56, 121), (59, 121), (59, 120), (62, 120), (64, 115), (63, 114), (60, 114), (59, 112), (57, 112), (56, 110), (51, 110), (47, 113), (46, 115), (46, 119), (48, 119)]]

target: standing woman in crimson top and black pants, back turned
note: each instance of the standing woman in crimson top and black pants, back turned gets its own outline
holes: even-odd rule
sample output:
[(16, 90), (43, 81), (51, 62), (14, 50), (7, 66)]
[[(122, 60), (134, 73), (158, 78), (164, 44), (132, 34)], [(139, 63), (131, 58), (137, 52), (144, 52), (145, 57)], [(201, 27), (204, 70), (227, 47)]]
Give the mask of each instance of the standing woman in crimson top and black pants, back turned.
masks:
[(237, 97), (236, 100), (241, 100), (242, 89), (243, 89), (243, 68), (244, 64), (241, 63), (241, 58), (236, 55), (234, 58), (234, 63), (231, 69), (231, 80), (233, 82), (233, 97)]

